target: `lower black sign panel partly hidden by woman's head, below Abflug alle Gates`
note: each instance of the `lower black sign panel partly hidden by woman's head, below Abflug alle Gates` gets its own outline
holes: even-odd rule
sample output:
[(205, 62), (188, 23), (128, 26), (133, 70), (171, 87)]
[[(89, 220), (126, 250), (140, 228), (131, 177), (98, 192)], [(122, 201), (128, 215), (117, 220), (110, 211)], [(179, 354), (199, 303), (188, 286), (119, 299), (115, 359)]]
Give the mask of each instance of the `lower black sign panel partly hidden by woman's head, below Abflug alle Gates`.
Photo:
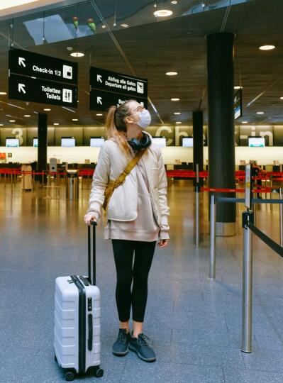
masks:
[[(99, 89), (91, 89), (90, 92), (90, 109), (94, 111), (105, 111), (112, 105), (119, 106), (125, 101), (128, 101), (129, 97), (125, 94), (112, 93), (110, 91), (102, 91)], [(148, 100), (135, 97), (141, 105), (148, 108)]]

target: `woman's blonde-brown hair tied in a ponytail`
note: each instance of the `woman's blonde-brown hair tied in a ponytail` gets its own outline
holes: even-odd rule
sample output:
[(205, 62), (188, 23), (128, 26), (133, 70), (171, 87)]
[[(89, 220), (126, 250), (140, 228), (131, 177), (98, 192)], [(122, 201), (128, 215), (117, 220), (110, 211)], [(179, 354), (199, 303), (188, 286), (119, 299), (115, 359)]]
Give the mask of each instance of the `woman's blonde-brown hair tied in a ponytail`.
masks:
[(120, 106), (111, 106), (106, 115), (105, 131), (107, 138), (112, 138), (118, 143), (121, 149), (125, 152), (131, 152), (130, 145), (124, 132), (127, 131), (125, 118), (130, 115), (129, 103), (133, 100), (128, 100)]

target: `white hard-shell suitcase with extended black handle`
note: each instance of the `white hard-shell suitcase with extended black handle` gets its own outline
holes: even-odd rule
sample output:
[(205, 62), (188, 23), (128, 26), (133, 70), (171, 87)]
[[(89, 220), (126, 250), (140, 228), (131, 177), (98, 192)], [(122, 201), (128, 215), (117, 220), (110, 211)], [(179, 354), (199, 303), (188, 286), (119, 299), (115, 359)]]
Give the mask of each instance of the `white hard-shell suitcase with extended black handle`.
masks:
[(93, 227), (93, 284), (91, 283), (91, 232), (88, 226), (89, 276), (57, 277), (55, 283), (55, 360), (65, 372), (67, 381), (75, 374), (94, 372), (100, 368), (100, 292), (96, 284), (96, 222)]

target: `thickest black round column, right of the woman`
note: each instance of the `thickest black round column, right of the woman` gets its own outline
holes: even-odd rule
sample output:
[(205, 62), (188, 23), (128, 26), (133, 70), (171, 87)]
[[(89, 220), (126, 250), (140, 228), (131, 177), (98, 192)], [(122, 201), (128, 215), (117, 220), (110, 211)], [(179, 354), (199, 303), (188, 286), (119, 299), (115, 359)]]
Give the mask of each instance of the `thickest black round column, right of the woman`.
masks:
[[(233, 33), (207, 38), (209, 187), (235, 188)], [(234, 196), (233, 194), (217, 194)], [(216, 235), (235, 234), (235, 204), (217, 204)]]

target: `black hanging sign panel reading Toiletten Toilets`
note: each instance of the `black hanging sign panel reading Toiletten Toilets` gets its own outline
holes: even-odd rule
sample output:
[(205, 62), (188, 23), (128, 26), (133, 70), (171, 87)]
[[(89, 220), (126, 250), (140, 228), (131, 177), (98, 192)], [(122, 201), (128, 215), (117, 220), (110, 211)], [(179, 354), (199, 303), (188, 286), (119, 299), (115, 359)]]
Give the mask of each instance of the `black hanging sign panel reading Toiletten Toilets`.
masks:
[(77, 87), (45, 79), (32, 79), (18, 74), (10, 74), (9, 99), (77, 107)]

